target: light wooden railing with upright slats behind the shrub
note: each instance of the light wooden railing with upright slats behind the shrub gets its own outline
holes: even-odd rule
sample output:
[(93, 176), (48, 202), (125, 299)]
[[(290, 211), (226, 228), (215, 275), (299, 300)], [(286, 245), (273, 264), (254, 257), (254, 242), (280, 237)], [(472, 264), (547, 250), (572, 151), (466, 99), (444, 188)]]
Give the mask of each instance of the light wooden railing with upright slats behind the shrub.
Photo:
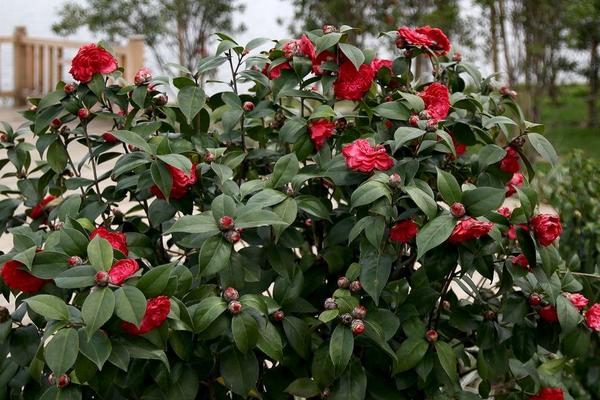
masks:
[[(23, 105), (27, 97), (49, 92), (61, 80), (72, 80), (68, 75), (71, 58), (87, 43), (33, 38), (27, 36), (25, 27), (18, 26), (12, 36), (0, 36), (0, 46), (5, 44), (13, 47), (13, 76), (3, 76), (0, 69), (0, 97), (13, 98), (15, 105)], [(132, 82), (136, 71), (144, 66), (144, 38), (132, 36), (126, 45), (113, 50), (119, 66), (125, 68), (125, 79)], [(3, 82), (11, 78), (12, 88), (3, 90)]]

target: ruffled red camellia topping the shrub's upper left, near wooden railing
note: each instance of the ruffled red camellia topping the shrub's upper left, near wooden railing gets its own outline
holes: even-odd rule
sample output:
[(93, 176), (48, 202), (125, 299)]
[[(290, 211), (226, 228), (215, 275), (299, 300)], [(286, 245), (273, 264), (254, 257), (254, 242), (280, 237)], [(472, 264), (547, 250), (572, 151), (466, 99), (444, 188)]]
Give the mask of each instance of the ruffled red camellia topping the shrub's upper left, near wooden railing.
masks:
[(69, 72), (79, 82), (86, 83), (92, 80), (94, 74), (110, 74), (117, 67), (117, 60), (112, 54), (91, 43), (79, 49)]

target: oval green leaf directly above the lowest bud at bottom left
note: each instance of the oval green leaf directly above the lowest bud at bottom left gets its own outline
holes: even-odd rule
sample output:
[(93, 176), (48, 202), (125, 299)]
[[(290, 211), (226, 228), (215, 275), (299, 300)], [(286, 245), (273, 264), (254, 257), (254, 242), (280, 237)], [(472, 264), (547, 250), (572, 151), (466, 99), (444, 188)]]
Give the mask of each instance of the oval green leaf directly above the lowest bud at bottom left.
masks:
[(64, 374), (75, 364), (79, 336), (73, 328), (59, 330), (44, 347), (44, 360), (55, 375)]

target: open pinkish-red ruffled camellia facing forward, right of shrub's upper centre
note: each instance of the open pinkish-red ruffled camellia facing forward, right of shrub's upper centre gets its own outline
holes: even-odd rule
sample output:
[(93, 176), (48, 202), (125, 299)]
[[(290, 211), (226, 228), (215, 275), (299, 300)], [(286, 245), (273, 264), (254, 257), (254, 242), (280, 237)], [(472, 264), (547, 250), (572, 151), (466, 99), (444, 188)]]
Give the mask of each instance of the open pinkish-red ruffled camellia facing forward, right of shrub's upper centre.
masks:
[(394, 166), (383, 145), (371, 146), (366, 139), (357, 139), (342, 149), (346, 166), (354, 171), (371, 172), (374, 169), (387, 171)]

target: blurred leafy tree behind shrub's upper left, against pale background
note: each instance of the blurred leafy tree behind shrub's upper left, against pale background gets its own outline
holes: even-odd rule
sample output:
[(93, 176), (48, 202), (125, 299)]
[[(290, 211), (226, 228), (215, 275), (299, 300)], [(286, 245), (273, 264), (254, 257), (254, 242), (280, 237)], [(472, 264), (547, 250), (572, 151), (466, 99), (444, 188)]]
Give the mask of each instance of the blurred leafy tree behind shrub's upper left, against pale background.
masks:
[(60, 35), (87, 27), (111, 41), (143, 35), (156, 61), (193, 69), (199, 57), (208, 54), (210, 35), (218, 31), (240, 31), (231, 16), (243, 10), (235, 0), (88, 0), (67, 3), (52, 26)]

